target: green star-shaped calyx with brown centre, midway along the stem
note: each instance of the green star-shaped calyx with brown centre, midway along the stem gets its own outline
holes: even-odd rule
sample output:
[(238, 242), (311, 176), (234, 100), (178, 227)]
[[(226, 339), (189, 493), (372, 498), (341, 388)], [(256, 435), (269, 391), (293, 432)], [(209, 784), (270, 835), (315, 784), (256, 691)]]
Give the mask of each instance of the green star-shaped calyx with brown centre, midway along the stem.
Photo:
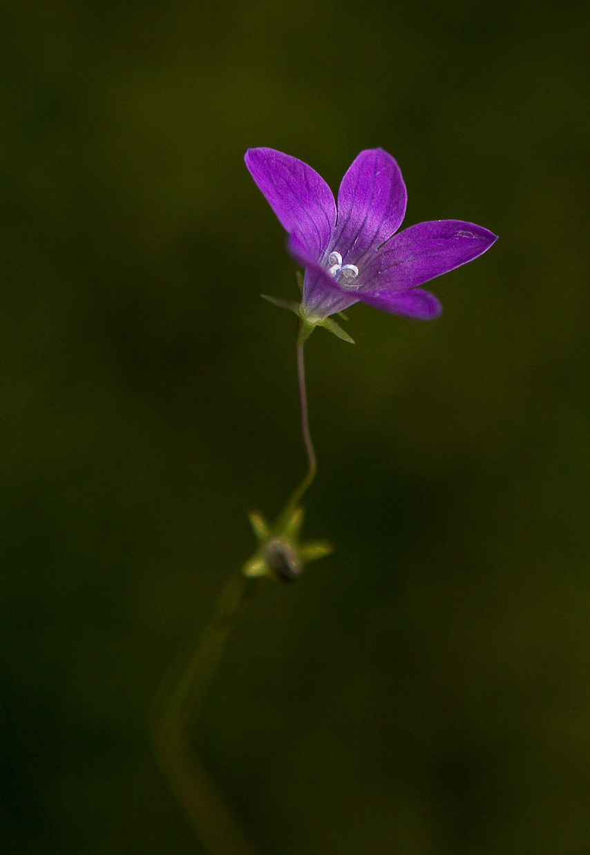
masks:
[(281, 581), (293, 581), (301, 575), (304, 564), (333, 551), (333, 546), (325, 540), (299, 542), (304, 522), (302, 508), (281, 516), (274, 527), (269, 526), (257, 511), (250, 513), (248, 518), (259, 545), (242, 569), (245, 576), (270, 576)]

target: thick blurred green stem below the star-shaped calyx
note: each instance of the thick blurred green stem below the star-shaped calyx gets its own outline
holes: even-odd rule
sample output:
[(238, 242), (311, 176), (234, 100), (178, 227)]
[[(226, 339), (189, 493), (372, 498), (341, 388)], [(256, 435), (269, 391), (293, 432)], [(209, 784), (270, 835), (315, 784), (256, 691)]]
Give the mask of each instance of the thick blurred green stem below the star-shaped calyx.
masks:
[(192, 727), (203, 709), (239, 605), (251, 584), (241, 573), (234, 574), (227, 582), (215, 613), (180, 677), (176, 673), (162, 687), (152, 733), (160, 768), (209, 855), (253, 855), (254, 852), (190, 746)]

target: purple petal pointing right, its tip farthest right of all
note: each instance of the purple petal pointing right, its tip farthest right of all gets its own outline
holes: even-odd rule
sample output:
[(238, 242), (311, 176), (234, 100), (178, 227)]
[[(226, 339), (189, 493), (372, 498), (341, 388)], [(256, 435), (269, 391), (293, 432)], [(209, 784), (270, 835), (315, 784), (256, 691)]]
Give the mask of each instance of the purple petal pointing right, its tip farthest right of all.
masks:
[(363, 285), (369, 292), (422, 285), (481, 256), (495, 240), (495, 234), (471, 222), (420, 222), (383, 247), (363, 271)]

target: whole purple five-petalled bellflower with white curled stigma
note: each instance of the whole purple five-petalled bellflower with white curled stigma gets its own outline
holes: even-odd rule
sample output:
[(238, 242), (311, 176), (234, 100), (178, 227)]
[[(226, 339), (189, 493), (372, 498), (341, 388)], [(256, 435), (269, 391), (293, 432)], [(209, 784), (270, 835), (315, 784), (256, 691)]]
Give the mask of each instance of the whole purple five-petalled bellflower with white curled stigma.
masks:
[(407, 194), (398, 164), (382, 149), (361, 151), (352, 162), (338, 208), (322, 177), (296, 157), (249, 149), (245, 164), (305, 269), (298, 314), (311, 328), (336, 327), (327, 316), (359, 300), (396, 315), (434, 318), (440, 303), (419, 286), (481, 256), (496, 240), (486, 228), (461, 220), (421, 222), (398, 232)]

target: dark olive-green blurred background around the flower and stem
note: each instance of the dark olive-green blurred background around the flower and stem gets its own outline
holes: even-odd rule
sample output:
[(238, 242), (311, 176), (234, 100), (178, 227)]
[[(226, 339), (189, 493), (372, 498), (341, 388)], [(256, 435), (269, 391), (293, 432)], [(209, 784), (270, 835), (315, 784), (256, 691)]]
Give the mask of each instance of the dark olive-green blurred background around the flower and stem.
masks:
[(151, 758), (174, 657), (304, 472), (249, 146), (492, 251), (307, 347), (332, 557), (263, 584), (194, 734), (257, 850), (590, 852), (587, 3), (0, 10), (0, 849), (202, 852)]

